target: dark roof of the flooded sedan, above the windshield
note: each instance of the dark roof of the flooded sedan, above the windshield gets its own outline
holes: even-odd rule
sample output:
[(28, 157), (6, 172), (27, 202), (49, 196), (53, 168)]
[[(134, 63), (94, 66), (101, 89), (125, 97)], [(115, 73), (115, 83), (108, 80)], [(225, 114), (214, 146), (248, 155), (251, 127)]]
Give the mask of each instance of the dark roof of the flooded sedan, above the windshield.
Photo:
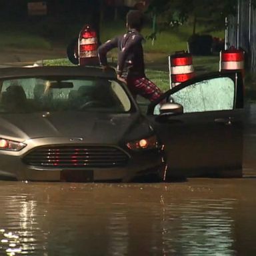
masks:
[(5, 67), (0, 69), (0, 79), (11, 77), (77, 76), (116, 79), (115, 69), (103, 71), (100, 67), (81, 66), (43, 66), (43, 67)]

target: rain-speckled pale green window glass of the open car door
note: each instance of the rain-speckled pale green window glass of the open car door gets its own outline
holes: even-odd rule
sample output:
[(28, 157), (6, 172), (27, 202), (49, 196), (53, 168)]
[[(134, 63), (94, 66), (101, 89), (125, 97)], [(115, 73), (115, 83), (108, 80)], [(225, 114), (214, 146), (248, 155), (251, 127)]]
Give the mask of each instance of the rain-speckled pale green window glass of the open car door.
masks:
[(173, 93), (171, 99), (183, 105), (184, 113), (231, 110), (235, 83), (229, 77), (208, 79)]

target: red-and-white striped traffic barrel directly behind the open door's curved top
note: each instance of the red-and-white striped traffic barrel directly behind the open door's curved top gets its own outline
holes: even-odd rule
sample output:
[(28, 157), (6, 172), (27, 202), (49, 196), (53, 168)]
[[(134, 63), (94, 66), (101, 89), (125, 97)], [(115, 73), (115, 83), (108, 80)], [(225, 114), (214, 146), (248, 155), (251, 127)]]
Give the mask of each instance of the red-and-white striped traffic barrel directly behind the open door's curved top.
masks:
[(191, 53), (177, 51), (169, 56), (169, 74), (171, 88), (195, 77)]

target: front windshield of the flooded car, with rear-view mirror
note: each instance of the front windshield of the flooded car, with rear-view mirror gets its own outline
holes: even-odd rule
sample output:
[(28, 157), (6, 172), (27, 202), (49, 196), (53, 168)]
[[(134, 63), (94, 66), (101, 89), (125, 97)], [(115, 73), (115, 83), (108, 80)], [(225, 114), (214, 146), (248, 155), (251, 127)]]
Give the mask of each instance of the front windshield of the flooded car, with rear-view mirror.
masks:
[(117, 81), (106, 78), (30, 77), (1, 81), (1, 113), (38, 111), (131, 111), (131, 101)]

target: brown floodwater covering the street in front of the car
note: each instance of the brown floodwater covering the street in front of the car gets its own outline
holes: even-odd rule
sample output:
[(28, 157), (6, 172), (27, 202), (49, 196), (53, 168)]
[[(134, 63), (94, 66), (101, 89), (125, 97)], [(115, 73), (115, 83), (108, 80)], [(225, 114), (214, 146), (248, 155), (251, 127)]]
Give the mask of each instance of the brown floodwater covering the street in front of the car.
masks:
[(0, 255), (255, 255), (256, 179), (0, 182)]

